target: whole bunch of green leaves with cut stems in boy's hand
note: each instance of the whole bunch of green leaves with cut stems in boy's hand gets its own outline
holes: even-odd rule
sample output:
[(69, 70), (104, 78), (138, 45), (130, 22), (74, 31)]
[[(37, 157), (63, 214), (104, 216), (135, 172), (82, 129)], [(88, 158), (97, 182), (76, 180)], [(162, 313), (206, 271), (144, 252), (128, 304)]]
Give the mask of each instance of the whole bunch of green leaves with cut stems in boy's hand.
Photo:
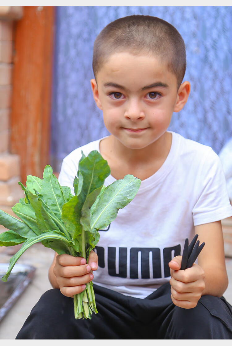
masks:
[[(19, 182), (25, 198), (12, 210), (20, 219), (0, 210), (0, 224), (9, 229), (0, 234), (0, 246), (23, 245), (10, 259), (2, 280), (7, 281), (19, 257), (38, 242), (58, 254), (80, 256), (88, 261), (99, 240), (98, 230), (106, 228), (118, 210), (132, 201), (141, 183), (133, 175), (126, 175), (105, 188), (109, 174), (107, 161), (98, 151), (92, 151), (88, 156), (82, 153), (78, 163), (73, 183), (75, 195), (69, 187), (60, 186), (49, 165), (43, 179), (29, 175), (26, 187)], [(74, 296), (74, 311), (75, 318), (89, 319), (97, 312), (92, 282)]]

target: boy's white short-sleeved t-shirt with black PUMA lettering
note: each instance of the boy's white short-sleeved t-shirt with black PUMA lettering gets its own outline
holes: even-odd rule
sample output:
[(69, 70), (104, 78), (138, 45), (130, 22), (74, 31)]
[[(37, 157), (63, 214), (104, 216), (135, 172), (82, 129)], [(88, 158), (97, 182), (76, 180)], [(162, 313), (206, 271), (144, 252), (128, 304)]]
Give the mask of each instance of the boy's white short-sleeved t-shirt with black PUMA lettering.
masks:
[[(99, 151), (99, 140), (65, 157), (59, 182), (69, 186), (78, 170), (81, 150)], [(115, 181), (112, 175), (105, 186)], [(212, 148), (172, 132), (170, 152), (160, 169), (141, 182), (135, 198), (119, 209), (107, 230), (99, 230), (95, 248), (95, 284), (145, 298), (170, 280), (168, 263), (182, 254), (194, 226), (232, 216), (221, 161)]]

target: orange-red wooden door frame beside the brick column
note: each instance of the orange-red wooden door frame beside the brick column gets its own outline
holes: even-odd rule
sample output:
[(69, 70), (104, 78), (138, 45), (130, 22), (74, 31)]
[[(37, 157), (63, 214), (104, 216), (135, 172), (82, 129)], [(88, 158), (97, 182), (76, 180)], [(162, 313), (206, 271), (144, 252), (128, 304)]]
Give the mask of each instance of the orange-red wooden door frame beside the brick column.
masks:
[(10, 151), (21, 181), (49, 163), (55, 7), (25, 6), (16, 22)]

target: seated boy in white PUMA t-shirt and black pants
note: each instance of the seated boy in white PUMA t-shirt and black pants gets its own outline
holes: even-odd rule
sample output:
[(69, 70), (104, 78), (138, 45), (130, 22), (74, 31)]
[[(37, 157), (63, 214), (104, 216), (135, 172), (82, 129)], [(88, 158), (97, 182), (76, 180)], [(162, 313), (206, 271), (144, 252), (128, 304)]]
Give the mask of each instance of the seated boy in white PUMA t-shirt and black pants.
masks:
[[(97, 149), (111, 169), (105, 185), (133, 174), (141, 187), (100, 230), (88, 264), (56, 254), (57, 290), (41, 297), (17, 338), (232, 338), (231, 306), (219, 298), (228, 285), (220, 220), (232, 215), (222, 167), (211, 148), (167, 131), (190, 93), (185, 67), (182, 37), (155, 17), (120, 18), (96, 38), (91, 87), (110, 136), (69, 154), (59, 181), (73, 191), (81, 150)], [(206, 245), (198, 264), (180, 270), (195, 233)], [(93, 278), (98, 314), (75, 320), (71, 297)]]

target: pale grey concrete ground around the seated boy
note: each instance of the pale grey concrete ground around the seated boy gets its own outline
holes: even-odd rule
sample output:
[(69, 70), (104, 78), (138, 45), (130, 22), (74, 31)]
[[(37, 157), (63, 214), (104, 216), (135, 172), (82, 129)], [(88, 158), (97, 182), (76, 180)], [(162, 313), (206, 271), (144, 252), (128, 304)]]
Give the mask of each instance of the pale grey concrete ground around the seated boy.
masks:
[[(0, 263), (9, 263), (11, 256), (0, 253)], [(35, 276), (18, 301), (0, 322), (0, 339), (15, 339), (32, 307), (37, 303), (40, 296), (51, 288), (48, 281), (48, 268), (53, 257), (54, 252), (39, 243), (27, 249), (18, 260), (18, 263), (36, 267)], [(226, 258), (226, 267), (229, 286), (224, 297), (232, 304), (232, 258)]]

